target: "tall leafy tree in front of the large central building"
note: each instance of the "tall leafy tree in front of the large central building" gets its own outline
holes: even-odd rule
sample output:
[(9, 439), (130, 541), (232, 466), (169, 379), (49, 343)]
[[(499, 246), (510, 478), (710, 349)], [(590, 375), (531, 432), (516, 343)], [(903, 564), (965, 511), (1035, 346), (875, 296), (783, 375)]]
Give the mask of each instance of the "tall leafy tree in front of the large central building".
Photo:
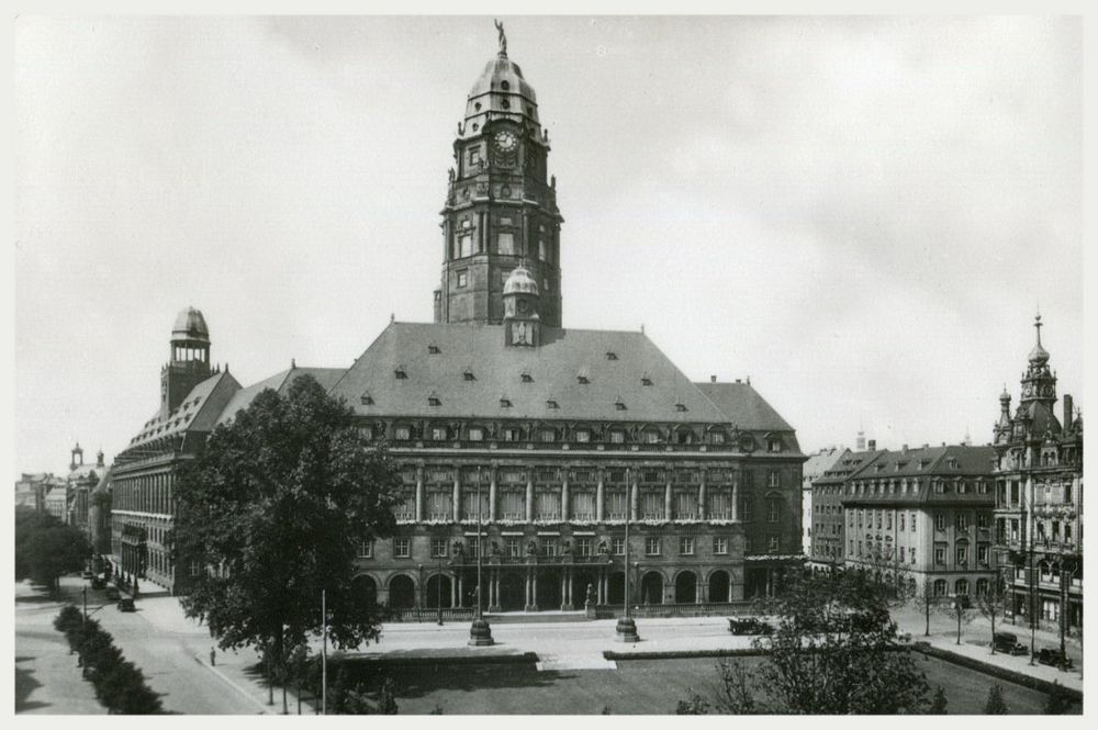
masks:
[(399, 485), (385, 448), (367, 448), (350, 408), (313, 378), (284, 396), (261, 392), (180, 472), (175, 558), (206, 568), (182, 598), (187, 615), (278, 674), (320, 633), (322, 591), (336, 648), (376, 639), (380, 610), (354, 594), (354, 563), (359, 543), (392, 534)]

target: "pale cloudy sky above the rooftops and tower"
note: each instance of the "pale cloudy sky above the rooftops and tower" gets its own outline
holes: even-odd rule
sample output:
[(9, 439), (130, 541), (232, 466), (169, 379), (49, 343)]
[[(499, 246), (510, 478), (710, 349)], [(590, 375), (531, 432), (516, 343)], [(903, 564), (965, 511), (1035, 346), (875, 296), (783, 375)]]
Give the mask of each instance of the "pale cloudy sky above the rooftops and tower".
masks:
[[(806, 452), (988, 442), (1038, 310), (1086, 405), (1080, 19), (502, 20), (565, 327), (750, 377)], [(186, 306), (243, 384), (429, 322), (495, 52), (491, 16), (18, 18), (15, 470), (110, 462)]]

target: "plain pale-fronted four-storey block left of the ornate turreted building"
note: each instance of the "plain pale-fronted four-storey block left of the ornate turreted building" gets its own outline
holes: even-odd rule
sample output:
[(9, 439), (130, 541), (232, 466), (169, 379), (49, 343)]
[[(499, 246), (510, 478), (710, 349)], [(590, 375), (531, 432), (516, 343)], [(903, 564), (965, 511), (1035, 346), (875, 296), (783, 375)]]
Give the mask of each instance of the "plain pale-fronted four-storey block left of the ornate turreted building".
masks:
[(991, 447), (884, 451), (847, 478), (845, 565), (911, 594), (978, 596), (994, 580)]

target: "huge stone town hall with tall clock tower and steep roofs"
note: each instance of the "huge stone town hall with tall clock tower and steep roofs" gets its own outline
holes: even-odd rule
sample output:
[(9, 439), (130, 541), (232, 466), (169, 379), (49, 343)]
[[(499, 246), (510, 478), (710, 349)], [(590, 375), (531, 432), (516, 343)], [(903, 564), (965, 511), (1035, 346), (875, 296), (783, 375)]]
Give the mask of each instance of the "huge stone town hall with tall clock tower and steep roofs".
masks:
[[(468, 609), (479, 550), (490, 610), (620, 606), (626, 570), (651, 611), (773, 593), (803, 562), (795, 430), (750, 382), (693, 382), (642, 332), (563, 326), (548, 153), (534, 89), (501, 47), (453, 141), (435, 321), (392, 322), (349, 369), (294, 370), (402, 467), (396, 534), (360, 547), (362, 599)], [(201, 570), (180, 572), (159, 541), (173, 464), (292, 374), (242, 389), (209, 369), (201, 315), (180, 318), (164, 377), (183, 380), (165, 382), (112, 472), (115, 544), (134, 547), (123, 569), (173, 589)]]

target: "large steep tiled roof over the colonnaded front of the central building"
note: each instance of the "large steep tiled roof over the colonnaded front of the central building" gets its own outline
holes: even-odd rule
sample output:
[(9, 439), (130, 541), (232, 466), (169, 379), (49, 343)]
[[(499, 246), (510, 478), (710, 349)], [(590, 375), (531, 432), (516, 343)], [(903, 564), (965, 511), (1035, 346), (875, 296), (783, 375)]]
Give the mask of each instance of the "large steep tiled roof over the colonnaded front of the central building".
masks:
[(540, 347), (522, 348), (506, 347), (498, 325), (393, 323), (332, 393), (360, 415), (735, 423), (792, 430), (750, 386), (718, 406), (650, 339), (632, 332), (545, 327)]

